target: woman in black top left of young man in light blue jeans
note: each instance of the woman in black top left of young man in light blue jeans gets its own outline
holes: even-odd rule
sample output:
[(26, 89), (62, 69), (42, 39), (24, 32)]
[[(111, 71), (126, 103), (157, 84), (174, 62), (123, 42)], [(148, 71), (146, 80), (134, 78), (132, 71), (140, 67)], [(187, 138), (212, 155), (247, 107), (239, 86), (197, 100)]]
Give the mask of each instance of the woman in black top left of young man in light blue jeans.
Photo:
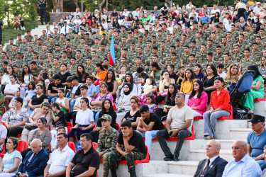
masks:
[(126, 113), (124, 116), (123, 121), (129, 120), (132, 124), (133, 130), (137, 130), (138, 122), (140, 121), (140, 111), (138, 110), (138, 97), (132, 96), (131, 97), (131, 110)]

